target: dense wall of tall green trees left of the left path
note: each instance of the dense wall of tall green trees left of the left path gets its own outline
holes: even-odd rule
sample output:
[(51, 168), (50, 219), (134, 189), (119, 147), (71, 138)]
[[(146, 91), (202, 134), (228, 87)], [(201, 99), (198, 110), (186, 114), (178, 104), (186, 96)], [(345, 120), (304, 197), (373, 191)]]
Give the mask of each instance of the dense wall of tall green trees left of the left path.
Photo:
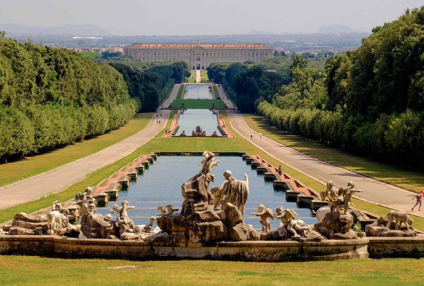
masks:
[(103, 134), (137, 108), (113, 67), (1, 33), (1, 160)]

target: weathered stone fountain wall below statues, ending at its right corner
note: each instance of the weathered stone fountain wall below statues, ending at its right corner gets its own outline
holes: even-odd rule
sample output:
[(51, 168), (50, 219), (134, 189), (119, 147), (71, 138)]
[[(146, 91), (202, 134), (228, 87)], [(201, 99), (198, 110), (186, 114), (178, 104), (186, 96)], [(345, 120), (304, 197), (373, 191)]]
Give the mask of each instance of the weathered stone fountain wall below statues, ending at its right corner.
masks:
[(152, 243), (141, 240), (74, 239), (56, 235), (3, 235), (0, 236), (0, 254), (129, 260), (220, 259), (277, 262), (368, 258), (368, 243), (369, 239)]

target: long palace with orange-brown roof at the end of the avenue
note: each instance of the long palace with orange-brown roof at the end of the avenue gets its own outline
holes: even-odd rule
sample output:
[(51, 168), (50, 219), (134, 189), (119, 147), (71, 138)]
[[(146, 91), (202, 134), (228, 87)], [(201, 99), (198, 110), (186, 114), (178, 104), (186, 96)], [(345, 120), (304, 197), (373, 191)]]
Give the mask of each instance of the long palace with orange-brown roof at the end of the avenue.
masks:
[(138, 61), (187, 61), (191, 69), (206, 69), (214, 61), (260, 61), (273, 56), (264, 44), (144, 44), (124, 47), (124, 55)]

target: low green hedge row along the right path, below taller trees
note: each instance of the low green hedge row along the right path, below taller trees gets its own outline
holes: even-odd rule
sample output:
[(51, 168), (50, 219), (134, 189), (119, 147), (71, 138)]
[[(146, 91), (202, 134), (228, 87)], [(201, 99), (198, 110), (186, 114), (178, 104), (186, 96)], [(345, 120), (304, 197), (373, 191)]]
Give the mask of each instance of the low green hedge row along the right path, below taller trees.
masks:
[(263, 101), (259, 114), (281, 130), (404, 164), (424, 161), (424, 111), (380, 114), (373, 123), (341, 111), (281, 109)]

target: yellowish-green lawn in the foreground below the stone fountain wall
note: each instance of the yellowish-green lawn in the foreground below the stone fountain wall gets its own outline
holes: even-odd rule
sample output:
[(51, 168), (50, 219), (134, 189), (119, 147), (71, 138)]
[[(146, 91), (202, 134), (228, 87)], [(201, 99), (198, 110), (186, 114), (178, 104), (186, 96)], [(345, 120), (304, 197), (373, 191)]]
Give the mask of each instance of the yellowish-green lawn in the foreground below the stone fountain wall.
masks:
[[(109, 269), (133, 266), (138, 269)], [(22, 271), (22, 269), (25, 269)], [(95, 275), (88, 269), (95, 269)], [(113, 275), (111, 275), (113, 273)], [(424, 274), (412, 258), (308, 262), (124, 261), (0, 256), (7, 285), (420, 285)], [(219, 281), (219, 282), (218, 282)], [(324, 282), (325, 281), (325, 282)], [(421, 282), (420, 282), (421, 281)]]

